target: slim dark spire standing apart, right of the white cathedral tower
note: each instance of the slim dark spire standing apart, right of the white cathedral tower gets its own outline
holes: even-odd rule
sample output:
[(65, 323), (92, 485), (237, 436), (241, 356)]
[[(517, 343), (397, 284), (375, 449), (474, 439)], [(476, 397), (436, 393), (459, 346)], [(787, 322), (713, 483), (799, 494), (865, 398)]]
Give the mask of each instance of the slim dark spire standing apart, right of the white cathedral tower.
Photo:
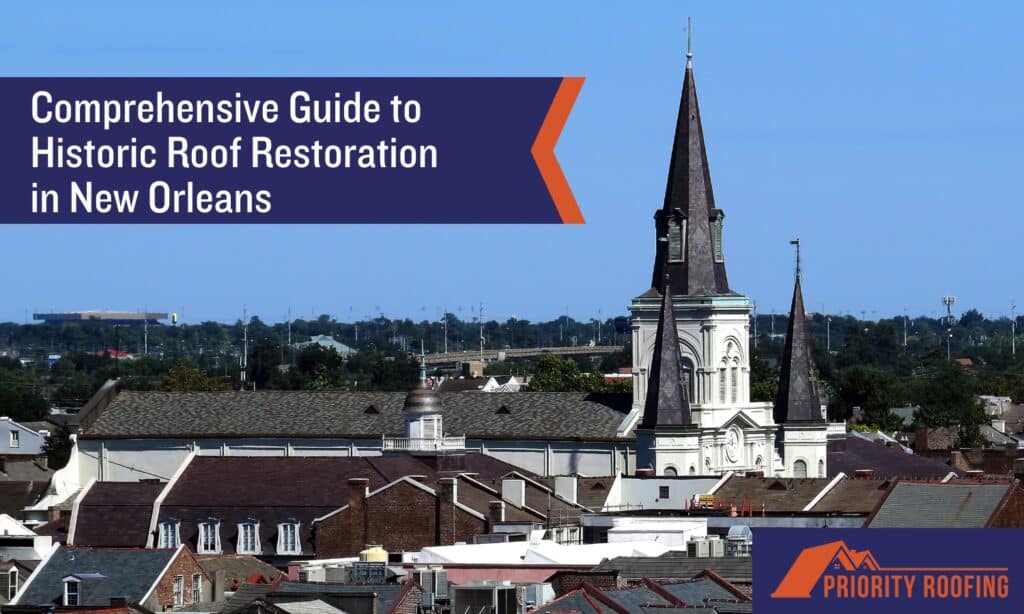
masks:
[(793, 306), (790, 308), (790, 324), (785, 333), (785, 349), (782, 351), (779, 368), (775, 422), (808, 421), (822, 422), (821, 399), (811, 364), (810, 337), (807, 334), (804, 293), (800, 287), (798, 268)]

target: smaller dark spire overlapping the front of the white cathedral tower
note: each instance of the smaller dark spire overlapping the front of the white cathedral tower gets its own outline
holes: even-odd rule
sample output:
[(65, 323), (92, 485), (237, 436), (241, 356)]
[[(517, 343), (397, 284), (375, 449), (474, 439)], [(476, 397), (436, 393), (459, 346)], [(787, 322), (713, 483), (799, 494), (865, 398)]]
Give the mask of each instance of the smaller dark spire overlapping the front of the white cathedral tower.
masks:
[[(666, 284), (666, 289), (668, 288)], [(647, 399), (644, 402), (641, 427), (652, 429), (691, 425), (689, 392), (683, 381), (679, 332), (676, 330), (671, 292), (663, 293), (654, 353), (647, 372)]]

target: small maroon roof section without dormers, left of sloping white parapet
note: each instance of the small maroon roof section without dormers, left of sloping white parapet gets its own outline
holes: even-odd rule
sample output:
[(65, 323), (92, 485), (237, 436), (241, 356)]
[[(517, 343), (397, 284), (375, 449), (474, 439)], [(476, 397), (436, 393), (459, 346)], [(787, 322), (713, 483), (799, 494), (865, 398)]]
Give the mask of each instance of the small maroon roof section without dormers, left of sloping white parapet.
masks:
[(153, 503), (164, 484), (96, 482), (79, 503), (75, 543), (92, 546), (143, 546), (150, 535)]

